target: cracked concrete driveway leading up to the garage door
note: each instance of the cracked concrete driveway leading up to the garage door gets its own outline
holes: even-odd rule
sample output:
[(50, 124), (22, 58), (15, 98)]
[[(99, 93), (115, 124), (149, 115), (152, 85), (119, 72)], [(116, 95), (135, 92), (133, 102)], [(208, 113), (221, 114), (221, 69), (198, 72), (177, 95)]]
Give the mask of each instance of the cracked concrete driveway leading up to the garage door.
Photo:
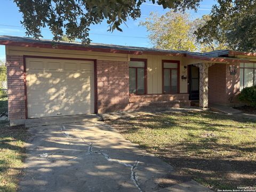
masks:
[(94, 120), (92, 116), (31, 119), (19, 190), (156, 191), (190, 180)]

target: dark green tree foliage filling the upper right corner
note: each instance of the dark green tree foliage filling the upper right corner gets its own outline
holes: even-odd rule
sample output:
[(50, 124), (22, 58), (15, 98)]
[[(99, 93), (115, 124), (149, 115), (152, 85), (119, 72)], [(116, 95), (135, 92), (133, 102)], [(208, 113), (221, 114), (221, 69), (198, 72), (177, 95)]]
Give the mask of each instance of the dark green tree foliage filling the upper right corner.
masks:
[(211, 17), (197, 32), (201, 42), (209, 38), (225, 42), (229, 49), (256, 51), (256, 1), (218, 0)]

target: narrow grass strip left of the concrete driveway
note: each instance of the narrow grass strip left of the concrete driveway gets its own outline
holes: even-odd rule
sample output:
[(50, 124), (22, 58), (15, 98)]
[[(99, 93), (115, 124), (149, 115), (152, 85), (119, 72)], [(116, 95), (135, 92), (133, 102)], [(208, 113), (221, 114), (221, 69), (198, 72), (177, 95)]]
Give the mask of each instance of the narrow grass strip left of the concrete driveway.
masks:
[(0, 191), (17, 191), (19, 176), (25, 159), (25, 127), (0, 124)]

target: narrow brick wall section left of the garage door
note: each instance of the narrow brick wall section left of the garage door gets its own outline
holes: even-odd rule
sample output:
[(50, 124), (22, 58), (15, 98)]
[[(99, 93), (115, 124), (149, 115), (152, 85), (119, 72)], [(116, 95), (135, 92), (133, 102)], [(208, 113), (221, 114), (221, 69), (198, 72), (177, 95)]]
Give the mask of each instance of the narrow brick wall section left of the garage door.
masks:
[(23, 56), (6, 55), (9, 119), (25, 119)]

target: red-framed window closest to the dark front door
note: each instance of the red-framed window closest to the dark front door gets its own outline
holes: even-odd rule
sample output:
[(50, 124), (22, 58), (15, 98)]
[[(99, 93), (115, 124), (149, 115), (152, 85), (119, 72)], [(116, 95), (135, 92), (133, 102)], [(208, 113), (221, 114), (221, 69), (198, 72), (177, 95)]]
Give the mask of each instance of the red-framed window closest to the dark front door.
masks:
[(179, 61), (163, 60), (163, 93), (179, 93)]

